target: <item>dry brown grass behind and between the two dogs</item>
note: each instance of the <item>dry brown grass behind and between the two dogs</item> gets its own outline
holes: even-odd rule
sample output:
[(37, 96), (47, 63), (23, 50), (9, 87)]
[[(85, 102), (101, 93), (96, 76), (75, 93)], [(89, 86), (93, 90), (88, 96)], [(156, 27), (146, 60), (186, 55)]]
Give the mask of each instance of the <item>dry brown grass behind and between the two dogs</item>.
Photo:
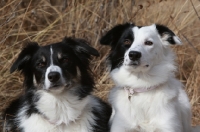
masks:
[[(200, 124), (200, 1), (199, 0), (1, 0), (0, 1), (0, 114), (23, 91), (23, 77), (9, 68), (28, 41), (40, 45), (64, 36), (88, 40), (101, 56), (91, 63), (94, 94), (106, 100), (113, 82), (105, 60), (109, 47), (99, 38), (116, 24), (167, 25), (183, 41), (175, 46), (178, 79), (186, 86), (192, 124)], [(0, 124), (3, 119), (0, 119)]]

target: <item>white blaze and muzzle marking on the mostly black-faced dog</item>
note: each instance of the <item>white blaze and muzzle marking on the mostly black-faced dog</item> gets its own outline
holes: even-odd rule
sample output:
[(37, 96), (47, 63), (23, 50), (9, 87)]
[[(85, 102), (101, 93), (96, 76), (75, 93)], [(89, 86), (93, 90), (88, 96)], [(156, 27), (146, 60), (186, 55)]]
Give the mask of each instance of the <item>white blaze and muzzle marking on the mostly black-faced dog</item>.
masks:
[(46, 70), (46, 73), (45, 73), (45, 89), (49, 89), (51, 87), (51, 82), (49, 81), (48, 79), (48, 75), (50, 72), (58, 72), (60, 73), (61, 75), (61, 79), (62, 79), (62, 71), (61, 71), (61, 68), (54, 65), (54, 62), (53, 62), (53, 49), (52, 49), (52, 46), (50, 47), (50, 66), (47, 68)]

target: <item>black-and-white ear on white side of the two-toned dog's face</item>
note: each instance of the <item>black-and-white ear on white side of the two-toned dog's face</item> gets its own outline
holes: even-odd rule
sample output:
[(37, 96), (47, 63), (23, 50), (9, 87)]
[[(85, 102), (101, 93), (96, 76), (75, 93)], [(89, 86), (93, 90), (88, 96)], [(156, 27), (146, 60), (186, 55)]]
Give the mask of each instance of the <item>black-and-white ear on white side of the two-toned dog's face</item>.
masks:
[(172, 32), (168, 27), (156, 24), (156, 29), (157, 29), (164, 45), (169, 45), (169, 44), (181, 45), (180, 38), (178, 36), (176, 36), (174, 34), (174, 32)]

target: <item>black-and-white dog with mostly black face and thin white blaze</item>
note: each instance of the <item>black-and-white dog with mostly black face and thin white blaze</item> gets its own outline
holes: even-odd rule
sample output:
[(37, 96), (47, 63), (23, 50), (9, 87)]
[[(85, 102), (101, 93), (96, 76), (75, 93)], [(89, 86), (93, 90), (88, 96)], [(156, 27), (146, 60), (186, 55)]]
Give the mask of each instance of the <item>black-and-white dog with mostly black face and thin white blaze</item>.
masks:
[(28, 44), (11, 67), (24, 75), (25, 93), (6, 110), (6, 128), (22, 132), (108, 132), (109, 105), (91, 94), (90, 56), (82, 39)]

